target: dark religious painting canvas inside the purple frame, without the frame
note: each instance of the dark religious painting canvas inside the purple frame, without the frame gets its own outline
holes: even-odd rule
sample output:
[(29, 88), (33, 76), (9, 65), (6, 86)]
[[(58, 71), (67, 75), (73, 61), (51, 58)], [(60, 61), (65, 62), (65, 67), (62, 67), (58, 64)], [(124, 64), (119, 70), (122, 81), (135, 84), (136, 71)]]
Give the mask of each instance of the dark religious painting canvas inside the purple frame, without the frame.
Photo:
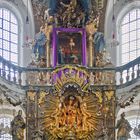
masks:
[(81, 33), (58, 33), (57, 63), (81, 64), (82, 35)]

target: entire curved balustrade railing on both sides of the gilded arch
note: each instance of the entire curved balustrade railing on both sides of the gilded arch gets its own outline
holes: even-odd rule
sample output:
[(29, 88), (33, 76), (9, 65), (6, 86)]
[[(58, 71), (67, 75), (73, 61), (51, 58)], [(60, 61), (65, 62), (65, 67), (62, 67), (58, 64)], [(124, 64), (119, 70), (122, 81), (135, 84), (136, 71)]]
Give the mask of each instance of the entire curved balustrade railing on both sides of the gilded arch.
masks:
[[(60, 66), (61, 67), (61, 66)], [(114, 85), (123, 88), (137, 82), (140, 77), (140, 57), (120, 67), (82, 67), (88, 71), (91, 85)], [(0, 56), (0, 77), (2, 80), (21, 87), (46, 87), (54, 83), (54, 68), (20, 67)]]

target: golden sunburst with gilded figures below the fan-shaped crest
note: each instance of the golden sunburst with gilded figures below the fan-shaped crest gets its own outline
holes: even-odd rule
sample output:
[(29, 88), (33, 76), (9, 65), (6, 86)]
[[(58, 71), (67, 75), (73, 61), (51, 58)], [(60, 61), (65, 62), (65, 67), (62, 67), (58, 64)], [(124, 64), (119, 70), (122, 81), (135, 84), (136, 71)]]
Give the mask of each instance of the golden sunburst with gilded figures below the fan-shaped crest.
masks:
[(93, 140), (101, 122), (98, 98), (80, 97), (73, 92), (62, 97), (49, 94), (45, 100), (42, 124), (49, 131), (49, 140), (63, 140), (70, 137), (70, 132), (77, 140)]

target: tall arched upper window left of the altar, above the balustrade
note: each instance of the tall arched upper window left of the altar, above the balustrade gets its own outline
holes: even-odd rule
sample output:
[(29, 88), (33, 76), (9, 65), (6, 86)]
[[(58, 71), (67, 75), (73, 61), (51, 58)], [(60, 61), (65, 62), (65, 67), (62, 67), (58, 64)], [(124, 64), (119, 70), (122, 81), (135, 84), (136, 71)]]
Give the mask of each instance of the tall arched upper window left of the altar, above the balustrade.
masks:
[(0, 8), (0, 55), (13, 64), (18, 64), (18, 21), (5, 8)]

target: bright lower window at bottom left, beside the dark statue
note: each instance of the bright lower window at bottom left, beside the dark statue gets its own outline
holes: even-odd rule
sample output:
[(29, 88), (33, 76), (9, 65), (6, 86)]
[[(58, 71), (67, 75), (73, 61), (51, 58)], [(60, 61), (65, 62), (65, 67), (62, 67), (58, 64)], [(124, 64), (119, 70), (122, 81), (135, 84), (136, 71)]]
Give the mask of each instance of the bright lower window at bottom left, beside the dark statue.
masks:
[[(2, 117), (0, 118), (0, 124), (4, 125), (5, 127), (9, 127), (10, 128), (10, 124), (11, 124), (11, 118), (9, 117)], [(1, 133), (0, 134), (0, 140), (12, 140), (12, 136), (8, 133)]]

